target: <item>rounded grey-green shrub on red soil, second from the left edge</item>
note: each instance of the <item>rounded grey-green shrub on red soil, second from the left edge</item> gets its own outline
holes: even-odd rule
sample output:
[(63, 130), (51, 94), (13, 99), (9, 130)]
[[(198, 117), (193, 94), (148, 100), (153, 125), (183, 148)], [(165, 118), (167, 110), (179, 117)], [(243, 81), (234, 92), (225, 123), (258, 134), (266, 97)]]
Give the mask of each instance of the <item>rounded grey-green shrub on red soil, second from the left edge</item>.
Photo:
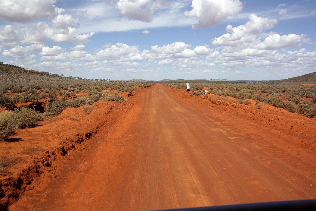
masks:
[(20, 129), (32, 127), (40, 120), (42, 120), (42, 115), (29, 108), (15, 109), (12, 115), (12, 124)]

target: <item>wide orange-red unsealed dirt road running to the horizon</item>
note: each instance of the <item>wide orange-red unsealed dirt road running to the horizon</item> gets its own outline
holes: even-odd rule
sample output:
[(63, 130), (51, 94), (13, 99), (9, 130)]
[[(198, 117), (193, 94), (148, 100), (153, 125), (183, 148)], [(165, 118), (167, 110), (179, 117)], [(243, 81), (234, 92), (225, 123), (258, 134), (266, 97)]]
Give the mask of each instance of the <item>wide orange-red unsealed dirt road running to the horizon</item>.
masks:
[(316, 198), (316, 152), (291, 136), (176, 96), (162, 84), (137, 92), (130, 109), (114, 108), (57, 178), (42, 178), (10, 209), (146, 210)]

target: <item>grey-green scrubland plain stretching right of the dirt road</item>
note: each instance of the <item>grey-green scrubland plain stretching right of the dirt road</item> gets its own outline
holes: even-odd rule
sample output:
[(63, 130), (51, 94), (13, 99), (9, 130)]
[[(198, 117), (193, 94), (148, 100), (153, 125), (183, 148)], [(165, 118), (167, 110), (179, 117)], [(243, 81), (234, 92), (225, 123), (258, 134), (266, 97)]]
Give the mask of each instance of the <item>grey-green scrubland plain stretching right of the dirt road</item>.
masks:
[[(186, 89), (185, 83), (166, 85)], [(190, 83), (190, 88), (196, 96), (204, 94), (202, 90), (206, 88), (209, 94), (234, 97), (238, 99), (238, 103), (249, 104), (244, 99), (253, 99), (258, 108), (261, 106), (260, 102), (265, 102), (292, 113), (316, 117), (316, 86), (280, 82), (214, 82)]]

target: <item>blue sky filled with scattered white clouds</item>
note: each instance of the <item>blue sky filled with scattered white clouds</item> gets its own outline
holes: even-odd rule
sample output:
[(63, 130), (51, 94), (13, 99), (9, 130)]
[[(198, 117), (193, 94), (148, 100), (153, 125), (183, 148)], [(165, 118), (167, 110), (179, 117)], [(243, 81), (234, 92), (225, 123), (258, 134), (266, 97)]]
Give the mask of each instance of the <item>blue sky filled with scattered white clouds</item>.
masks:
[(316, 1), (0, 0), (0, 61), (128, 80), (316, 71)]

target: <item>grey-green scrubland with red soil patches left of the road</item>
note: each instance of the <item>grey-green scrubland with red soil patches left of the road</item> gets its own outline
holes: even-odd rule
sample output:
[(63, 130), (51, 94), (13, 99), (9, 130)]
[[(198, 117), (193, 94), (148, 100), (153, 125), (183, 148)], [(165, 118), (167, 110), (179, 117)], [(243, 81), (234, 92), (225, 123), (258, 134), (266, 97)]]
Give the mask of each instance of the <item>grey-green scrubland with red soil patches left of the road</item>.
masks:
[[(3, 65), (3, 64), (2, 64)], [(16, 66), (7, 68), (16, 70)], [(6, 140), (17, 128), (33, 127), (45, 117), (60, 114), (67, 108), (83, 105), (86, 113), (88, 105), (99, 100), (127, 101), (120, 92), (131, 96), (136, 87), (149, 87), (152, 83), (109, 82), (103, 80), (85, 80), (64, 78), (46, 72), (16, 71), (0, 72), (0, 139)], [(3, 111), (4, 110), (4, 111)]]

